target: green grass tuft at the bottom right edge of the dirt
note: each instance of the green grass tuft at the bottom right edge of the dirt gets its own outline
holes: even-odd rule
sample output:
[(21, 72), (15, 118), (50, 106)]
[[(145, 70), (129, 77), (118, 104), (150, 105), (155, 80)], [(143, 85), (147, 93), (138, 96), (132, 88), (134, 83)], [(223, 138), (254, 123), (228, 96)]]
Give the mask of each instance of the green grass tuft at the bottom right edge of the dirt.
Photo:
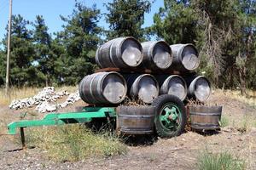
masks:
[(199, 170), (243, 170), (245, 168), (245, 161), (228, 152), (212, 154), (205, 151), (199, 156), (197, 162)]

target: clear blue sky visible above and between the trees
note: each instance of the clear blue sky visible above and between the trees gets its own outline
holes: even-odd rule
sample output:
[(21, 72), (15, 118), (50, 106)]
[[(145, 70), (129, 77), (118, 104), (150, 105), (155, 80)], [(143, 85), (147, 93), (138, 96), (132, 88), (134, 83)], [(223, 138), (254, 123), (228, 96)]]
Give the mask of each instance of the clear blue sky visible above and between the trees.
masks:
[[(91, 7), (96, 3), (96, 7), (101, 9), (101, 13), (108, 11), (103, 6), (103, 3), (112, 2), (111, 0), (84, 0), (84, 4)], [(44, 16), (46, 25), (49, 27), (49, 32), (61, 31), (64, 24), (60, 19), (60, 14), (67, 16), (72, 14), (74, 8), (74, 0), (13, 0), (13, 14), (20, 14), (26, 20), (33, 21), (36, 15)], [(143, 26), (153, 24), (153, 15), (158, 12), (159, 8), (164, 5), (163, 0), (156, 0), (153, 3), (149, 14), (145, 15), (145, 23)], [(0, 40), (6, 33), (5, 27), (9, 17), (9, 0), (0, 0)], [(99, 22), (99, 26), (108, 29), (108, 24), (104, 17)]]

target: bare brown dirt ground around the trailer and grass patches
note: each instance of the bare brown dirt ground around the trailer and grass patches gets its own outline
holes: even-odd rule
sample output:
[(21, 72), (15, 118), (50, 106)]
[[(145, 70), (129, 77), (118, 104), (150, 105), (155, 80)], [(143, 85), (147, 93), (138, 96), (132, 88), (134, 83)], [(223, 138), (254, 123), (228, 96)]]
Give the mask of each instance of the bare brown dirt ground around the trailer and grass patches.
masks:
[[(196, 169), (197, 158), (204, 150), (228, 151), (245, 160), (247, 169), (256, 169), (256, 107), (219, 91), (212, 94), (208, 104), (224, 106), (223, 116), (229, 120), (229, 127), (211, 135), (186, 132), (172, 139), (157, 139), (150, 145), (128, 146), (126, 155), (107, 159), (55, 162), (46, 159), (39, 148), (19, 150), (20, 144), (13, 142), (13, 136), (1, 135), (0, 169)], [(79, 101), (68, 110), (74, 111), (78, 105), (84, 104)], [(4, 134), (7, 123), (20, 119), (20, 111), (0, 105), (0, 117), (0, 132)], [(244, 129), (247, 131), (242, 133)]]

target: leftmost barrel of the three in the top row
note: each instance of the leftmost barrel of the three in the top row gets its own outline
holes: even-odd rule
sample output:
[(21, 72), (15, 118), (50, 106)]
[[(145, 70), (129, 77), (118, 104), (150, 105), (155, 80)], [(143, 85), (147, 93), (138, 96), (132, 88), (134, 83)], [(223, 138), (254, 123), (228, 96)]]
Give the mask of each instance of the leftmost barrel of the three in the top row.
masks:
[(96, 63), (102, 67), (137, 67), (143, 61), (143, 48), (134, 37), (119, 37), (104, 43), (96, 51)]

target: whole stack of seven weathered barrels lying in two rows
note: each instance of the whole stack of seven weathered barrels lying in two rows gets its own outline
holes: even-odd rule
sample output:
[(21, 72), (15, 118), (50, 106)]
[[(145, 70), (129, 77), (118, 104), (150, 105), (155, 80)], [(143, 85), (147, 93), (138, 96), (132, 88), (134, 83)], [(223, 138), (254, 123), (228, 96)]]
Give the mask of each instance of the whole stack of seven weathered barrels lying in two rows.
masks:
[(160, 94), (203, 103), (211, 94), (207, 78), (195, 73), (200, 59), (193, 44), (118, 37), (97, 49), (96, 63), (101, 69), (79, 83), (88, 104), (117, 105), (125, 96), (150, 104)]

